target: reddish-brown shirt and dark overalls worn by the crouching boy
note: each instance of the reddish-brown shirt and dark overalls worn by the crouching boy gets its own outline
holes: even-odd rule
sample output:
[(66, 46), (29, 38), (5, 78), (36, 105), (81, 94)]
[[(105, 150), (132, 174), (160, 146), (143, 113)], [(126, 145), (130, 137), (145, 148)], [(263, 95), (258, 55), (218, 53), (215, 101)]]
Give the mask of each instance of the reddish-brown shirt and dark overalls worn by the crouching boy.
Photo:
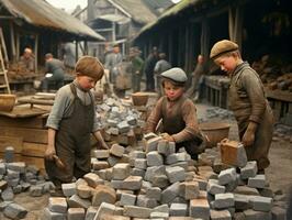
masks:
[(147, 132), (155, 132), (160, 119), (162, 120), (161, 132), (175, 139), (177, 150), (184, 146), (192, 158), (196, 160), (202, 148), (198, 143), (200, 131), (193, 102), (184, 96), (176, 101), (168, 101), (164, 96), (157, 101), (147, 120)]

